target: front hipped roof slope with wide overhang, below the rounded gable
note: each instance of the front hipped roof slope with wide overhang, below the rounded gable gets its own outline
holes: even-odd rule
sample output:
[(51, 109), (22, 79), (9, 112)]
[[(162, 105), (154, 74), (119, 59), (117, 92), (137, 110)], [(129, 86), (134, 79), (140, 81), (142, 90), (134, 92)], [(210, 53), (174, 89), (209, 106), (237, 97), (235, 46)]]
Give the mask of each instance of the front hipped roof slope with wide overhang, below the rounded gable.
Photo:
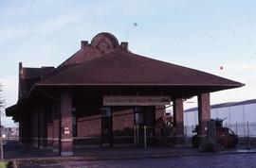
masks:
[(225, 89), (243, 86), (227, 78), (145, 58), (121, 49), (64, 69), (36, 85), (223, 86)]

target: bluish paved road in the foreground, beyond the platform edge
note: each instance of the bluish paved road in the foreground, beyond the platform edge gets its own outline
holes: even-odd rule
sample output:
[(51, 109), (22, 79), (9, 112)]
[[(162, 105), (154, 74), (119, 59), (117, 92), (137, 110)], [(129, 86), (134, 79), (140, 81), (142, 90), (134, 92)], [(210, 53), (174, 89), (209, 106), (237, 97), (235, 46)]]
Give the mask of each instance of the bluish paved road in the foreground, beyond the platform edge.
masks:
[(255, 168), (256, 154), (226, 154), (209, 155), (181, 158), (157, 158), (144, 160), (99, 160), (99, 161), (64, 161), (49, 164), (31, 164), (22, 166), (28, 167), (52, 167), (52, 168), (155, 168), (155, 167), (174, 167), (174, 168)]

